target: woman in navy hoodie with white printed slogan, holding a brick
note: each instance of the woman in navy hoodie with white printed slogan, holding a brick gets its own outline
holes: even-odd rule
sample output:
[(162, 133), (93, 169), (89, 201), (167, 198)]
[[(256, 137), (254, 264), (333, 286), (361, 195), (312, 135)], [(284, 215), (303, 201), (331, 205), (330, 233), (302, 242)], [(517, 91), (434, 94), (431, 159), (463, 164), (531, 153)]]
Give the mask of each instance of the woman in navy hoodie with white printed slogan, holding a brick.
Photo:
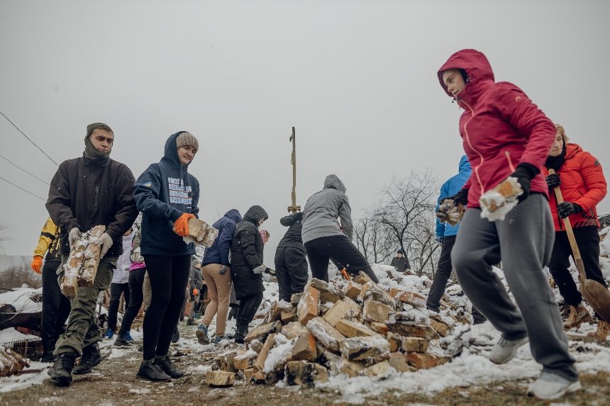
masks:
[(199, 181), (188, 172), (197, 150), (199, 143), (191, 133), (176, 132), (165, 142), (160, 162), (151, 164), (133, 186), (135, 204), (143, 213), (140, 254), (152, 291), (138, 370), (138, 376), (148, 380), (184, 376), (167, 352), (189, 282), (191, 255), (195, 254), (194, 244), (187, 244), (182, 237), (189, 234), (189, 218), (199, 213)]

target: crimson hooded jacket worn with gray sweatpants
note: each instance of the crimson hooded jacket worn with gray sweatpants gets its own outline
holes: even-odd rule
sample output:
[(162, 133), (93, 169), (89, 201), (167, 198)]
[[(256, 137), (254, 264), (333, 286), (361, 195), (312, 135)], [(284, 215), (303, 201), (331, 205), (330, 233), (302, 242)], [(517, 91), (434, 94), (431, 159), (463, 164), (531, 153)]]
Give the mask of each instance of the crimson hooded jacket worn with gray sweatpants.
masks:
[[(464, 108), (460, 117), (460, 135), (464, 151), (472, 165), (469, 208), (479, 207), (479, 198), (504, 181), (518, 164), (528, 163), (542, 169), (555, 140), (555, 125), (531, 102), (521, 89), (509, 82), (495, 82), (487, 57), (477, 50), (455, 52), (438, 70), (443, 89), (443, 71), (464, 69), (468, 81), (457, 95)], [(548, 196), (542, 174), (531, 181), (531, 192)]]

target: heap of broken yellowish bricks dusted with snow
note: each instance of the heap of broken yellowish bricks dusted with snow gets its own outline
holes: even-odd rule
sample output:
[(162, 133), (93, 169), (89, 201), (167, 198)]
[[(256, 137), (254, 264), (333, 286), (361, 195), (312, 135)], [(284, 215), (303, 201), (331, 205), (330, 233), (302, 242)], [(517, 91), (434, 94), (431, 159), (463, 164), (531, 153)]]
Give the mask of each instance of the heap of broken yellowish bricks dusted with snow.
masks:
[[(453, 327), (447, 321), (426, 310), (423, 295), (386, 291), (362, 273), (334, 283), (311, 279), (291, 303), (272, 304), (262, 325), (245, 337), (245, 349), (218, 356), (206, 383), (233, 385), (237, 376), (314, 385), (329, 374), (385, 377), (432, 368), (461, 351), (461, 344), (452, 347), (461, 341), (448, 337)], [(450, 340), (443, 343), (443, 337)]]

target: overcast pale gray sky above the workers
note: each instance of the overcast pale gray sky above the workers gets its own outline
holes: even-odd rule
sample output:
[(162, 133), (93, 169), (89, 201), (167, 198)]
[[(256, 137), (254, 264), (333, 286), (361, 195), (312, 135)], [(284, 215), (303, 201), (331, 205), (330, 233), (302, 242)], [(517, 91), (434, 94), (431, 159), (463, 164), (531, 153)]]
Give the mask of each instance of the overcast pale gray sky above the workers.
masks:
[[(60, 163), (87, 124), (115, 133), (111, 157), (137, 177), (173, 132), (199, 140), (189, 171), (201, 218), (262, 205), (272, 264), (292, 188), (327, 174), (355, 218), (393, 175), (457, 171), (456, 104), (436, 72), (484, 52), (609, 173), (609, 1), (0, 1), (0, 111)], [(0, 116), (0, 154), (50, 181), (57, 167)], [(5, 179), (48, 186), (0, 158)], [(5, 254), (32, 254), (44, 201), (0, 179)], [(610, 198), (598, 206), (610, 211)]]

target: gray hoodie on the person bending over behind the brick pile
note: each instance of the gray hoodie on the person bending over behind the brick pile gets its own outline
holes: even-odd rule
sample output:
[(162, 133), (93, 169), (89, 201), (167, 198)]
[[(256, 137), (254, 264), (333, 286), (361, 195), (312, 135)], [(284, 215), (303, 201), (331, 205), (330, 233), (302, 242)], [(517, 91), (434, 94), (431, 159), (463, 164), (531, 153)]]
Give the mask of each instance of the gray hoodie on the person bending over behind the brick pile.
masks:
[[(307, 200), (303, 213), (303, 244), (321, 237), (344, 234), (352, 240), (352, 208), (345, 194), (345, 185), (337, 175), (326, 176), (324, 188)], [(337, 218), (341, 219), (341, 225)]]

